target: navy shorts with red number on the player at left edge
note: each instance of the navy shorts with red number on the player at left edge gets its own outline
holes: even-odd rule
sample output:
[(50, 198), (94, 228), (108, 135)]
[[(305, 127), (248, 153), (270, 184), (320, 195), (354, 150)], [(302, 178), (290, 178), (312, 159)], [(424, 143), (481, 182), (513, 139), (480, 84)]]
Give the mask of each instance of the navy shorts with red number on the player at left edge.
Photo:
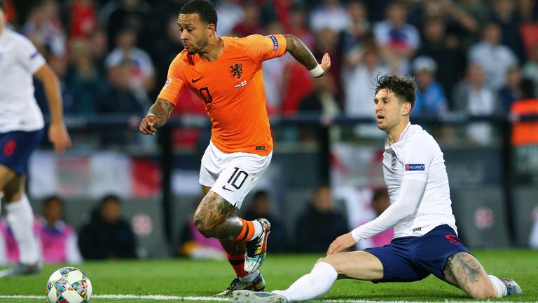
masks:
[(0, 164), (24, 175), (28, 159), (43, 139), (43, 129), (0, 133)]

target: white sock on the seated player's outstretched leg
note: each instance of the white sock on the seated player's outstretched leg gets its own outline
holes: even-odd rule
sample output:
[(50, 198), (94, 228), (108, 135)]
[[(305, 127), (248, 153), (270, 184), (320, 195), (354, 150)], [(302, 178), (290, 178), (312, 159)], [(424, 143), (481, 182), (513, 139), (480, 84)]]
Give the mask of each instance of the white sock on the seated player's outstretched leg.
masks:
[(274, 290), (272, 292), (283, 295), (288, 299), (288, 302), (306, 301), (325, 295), (334, 281), (338, 278), (336, 269), (329, 263), (320, 262), (314, 266), (310, 274), (305, 274), (287, 290)]

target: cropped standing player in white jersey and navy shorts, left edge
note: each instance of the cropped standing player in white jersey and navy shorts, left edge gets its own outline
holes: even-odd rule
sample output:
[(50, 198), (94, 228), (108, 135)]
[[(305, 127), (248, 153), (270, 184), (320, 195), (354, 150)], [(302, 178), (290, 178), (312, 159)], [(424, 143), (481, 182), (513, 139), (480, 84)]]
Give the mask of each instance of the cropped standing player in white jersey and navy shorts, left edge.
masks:
[(34, 98), (32, 76), (43, 82), (50, 108), (48, 139), (63, 152), (71, 139), (63, 121), (57, 76), (24, 36), (6, 28), (6, 5), (0, 0), (0, 191), (7, 221), (19, 247), (19, 264), (1, 276), (32, 274), (41, 254), (32, 231), (34, 214), (25, 193), (28, 159), (43, 137), (43, 114)]

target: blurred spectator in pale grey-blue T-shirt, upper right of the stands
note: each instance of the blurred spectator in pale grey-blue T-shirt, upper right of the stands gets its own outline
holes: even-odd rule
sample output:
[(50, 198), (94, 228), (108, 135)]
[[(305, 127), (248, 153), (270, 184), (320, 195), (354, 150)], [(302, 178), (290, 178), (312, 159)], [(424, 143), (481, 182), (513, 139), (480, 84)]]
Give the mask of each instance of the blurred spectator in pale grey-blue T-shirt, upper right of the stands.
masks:
[(499, 90), (506, 82), (506, 72), (518, 65), (513, 51), (502, 44), (501, 31), (495, 23), (483, 28), (482, 40), (469, 49), (469, 61), (477, 62), (485, 69), (486, 81), (492, 90)]

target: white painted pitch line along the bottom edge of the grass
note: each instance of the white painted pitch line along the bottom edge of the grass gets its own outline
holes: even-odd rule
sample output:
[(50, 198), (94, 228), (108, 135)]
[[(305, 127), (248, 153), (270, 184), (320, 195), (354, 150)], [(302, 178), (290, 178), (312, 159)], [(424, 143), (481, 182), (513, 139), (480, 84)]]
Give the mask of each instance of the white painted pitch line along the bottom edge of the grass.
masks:
[[(170, 296), (170, 295), (94, 295), (92, 298), (97, 299), (153, 299), (153, 300), (180, 300), (180, 301), (218, 301), (226, 302), (229, 301), (225, 297), (179, 297), (179, 296)], [(46, 299), (45, 296), (38, 295), (0, 295), (0, 299)], [(395, 301), (373, 301), (366, 299), (317, 299), (314, 302), (326, 302), (326, 303), (424, 303), (424, 301), (404, 301), (404, 300), (395, 300)], [(477, 301), (462, 301), (462, 300), (449, 300), (445, 299), (445, 303), (476, 303)], [(522, 302), (513, 302), (513, 301), (503, 301), (502, 303), (522, 303)], [(524, 303), (524, 302), (523, 302)]]

